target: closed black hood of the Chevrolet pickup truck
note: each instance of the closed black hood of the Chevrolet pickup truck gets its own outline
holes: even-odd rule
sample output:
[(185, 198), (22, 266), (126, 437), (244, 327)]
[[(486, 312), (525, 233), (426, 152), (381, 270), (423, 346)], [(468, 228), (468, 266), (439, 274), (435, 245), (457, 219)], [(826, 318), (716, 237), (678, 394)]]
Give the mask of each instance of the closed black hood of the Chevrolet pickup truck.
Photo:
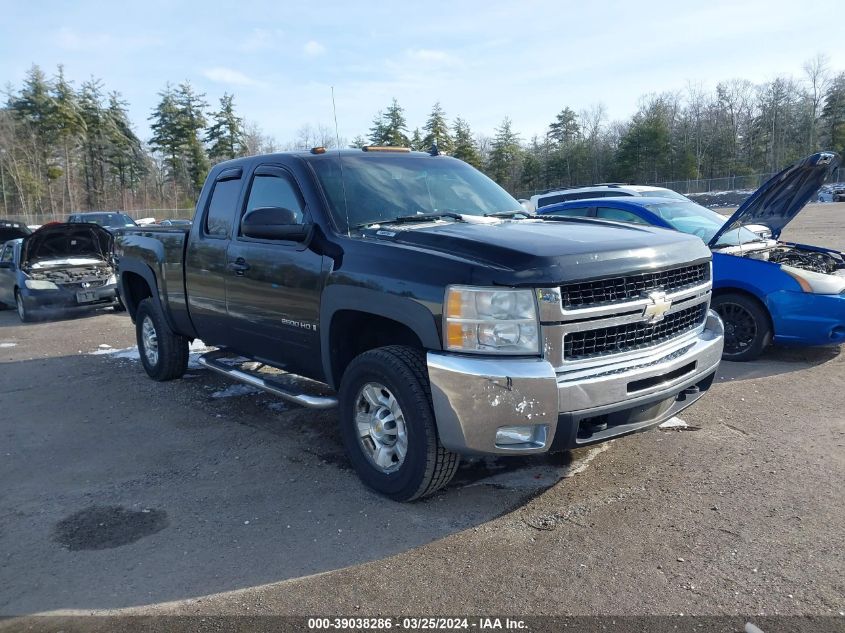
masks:
[(493, 269), (485, 271), (493, 283), (508, 285), (598, 279), (710, 258), (695, 236), (583, 218), (391, 225), (365, 235), (474, 261)]

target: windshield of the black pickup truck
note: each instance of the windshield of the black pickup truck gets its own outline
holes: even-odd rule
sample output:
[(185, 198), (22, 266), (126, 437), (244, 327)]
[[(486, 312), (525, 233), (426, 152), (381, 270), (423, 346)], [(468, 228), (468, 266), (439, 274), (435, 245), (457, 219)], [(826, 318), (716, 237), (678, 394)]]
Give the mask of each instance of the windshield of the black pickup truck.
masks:
[(445, 156), (324, 155), (312, 165), (342, 231), (409, 215), (524, 212), (487, 176)]

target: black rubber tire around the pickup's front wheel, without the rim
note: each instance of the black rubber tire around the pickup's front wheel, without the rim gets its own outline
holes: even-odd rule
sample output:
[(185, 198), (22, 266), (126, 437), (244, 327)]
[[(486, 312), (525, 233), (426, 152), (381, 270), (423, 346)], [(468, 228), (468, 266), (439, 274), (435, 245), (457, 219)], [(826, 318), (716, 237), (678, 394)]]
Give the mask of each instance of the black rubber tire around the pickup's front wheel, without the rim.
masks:
[[(391, 472), (374, 463), (364, 445), (371, 440), (362, 440), (357, 432), (359, 401), (369, 384), (389, 390), (403, 413), (407, 450)], [(423, 352), (393, 345), (361, 354), (344, 372), (338, 395), (346, 453), (368, 487), (394, 501), (413, 501), (433, 494), (454, 477), (460, 456), (444, 448), (437, 436)]]

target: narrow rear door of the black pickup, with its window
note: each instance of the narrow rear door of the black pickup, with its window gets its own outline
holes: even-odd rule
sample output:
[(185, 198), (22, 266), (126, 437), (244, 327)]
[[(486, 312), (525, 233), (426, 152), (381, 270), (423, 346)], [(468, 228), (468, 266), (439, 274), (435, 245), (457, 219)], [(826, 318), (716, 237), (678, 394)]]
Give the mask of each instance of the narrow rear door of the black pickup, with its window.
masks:
[(199, 337), (210, 345), (231, 339), (226, 312), (226, 251), (240, 208), (243, 170), (226, 169), (212, 185), (185, 253), (188, 308)]

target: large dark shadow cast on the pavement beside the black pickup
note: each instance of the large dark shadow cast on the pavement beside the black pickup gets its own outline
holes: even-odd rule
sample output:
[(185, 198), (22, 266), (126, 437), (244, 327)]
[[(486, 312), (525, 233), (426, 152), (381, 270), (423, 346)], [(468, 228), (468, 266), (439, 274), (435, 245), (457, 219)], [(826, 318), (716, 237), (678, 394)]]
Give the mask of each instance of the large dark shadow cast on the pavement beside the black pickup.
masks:
[(518, 507), (590, 451), (476, 460), (397, 504), (364, 488), (336, 414), (192, 369), (80, 354), (3, 363), (0, 613), (114, 609), (380, 559)]

